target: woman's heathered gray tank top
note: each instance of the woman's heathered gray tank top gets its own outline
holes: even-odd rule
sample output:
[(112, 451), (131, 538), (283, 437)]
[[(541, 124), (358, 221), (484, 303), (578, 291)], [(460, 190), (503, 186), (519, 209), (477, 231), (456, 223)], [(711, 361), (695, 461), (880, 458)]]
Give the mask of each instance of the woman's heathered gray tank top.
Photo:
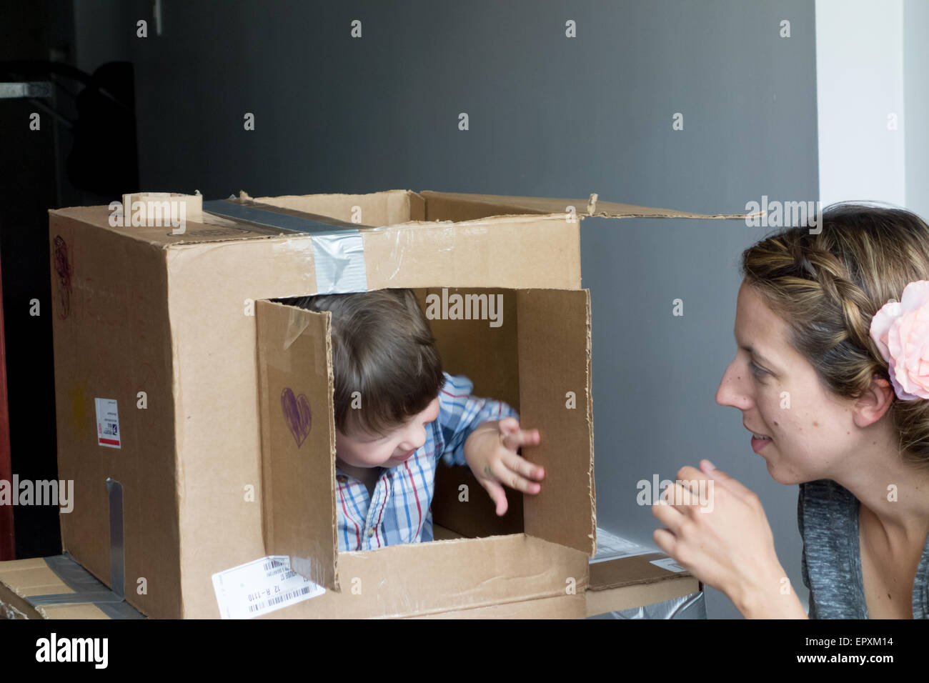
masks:
[[(867, 619), (858, 543), (858, 499), (832, 479), (800, 484), (797, 526), (804, 542), (810, 619)], [(929, 537), (913, 583), (913, 619), (929, 619)]]

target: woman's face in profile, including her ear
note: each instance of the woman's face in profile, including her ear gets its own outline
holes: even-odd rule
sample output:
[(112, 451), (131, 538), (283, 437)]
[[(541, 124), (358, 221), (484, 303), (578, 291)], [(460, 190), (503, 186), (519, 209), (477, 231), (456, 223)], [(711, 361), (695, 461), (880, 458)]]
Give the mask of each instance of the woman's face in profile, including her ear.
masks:
[[(877, 442), (875, 425), (889, 406), (883, 389), (858, 401), (843, 399), (820, 385), (813, 366), (787, 342), (787, 323), (742, 282), (736, 307), (736, 357), (716, 390), (716, 402), (742, 412), (745, 446), (765, 458), (767, 471), (782, 484), (836, 479), (849, 453), (864, 453)], [(752, 348), (752, 351), (747, 348)], [(887, 390), (886, 380), (883, 382)], [(752, 434), (771, 440), (752, 440)]]

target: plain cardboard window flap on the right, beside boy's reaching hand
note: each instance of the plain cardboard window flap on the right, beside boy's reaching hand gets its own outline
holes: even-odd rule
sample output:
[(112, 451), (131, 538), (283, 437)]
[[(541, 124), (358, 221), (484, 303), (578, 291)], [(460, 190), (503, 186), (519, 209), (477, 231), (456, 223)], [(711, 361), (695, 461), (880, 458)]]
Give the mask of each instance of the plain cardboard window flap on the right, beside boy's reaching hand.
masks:
[(520, 427), (541, 437), (524, 456), (545, 468), (541, 492), (523, 495), (524, 529), (593, 557), (590, 291), (518, 290), (517, 319)]

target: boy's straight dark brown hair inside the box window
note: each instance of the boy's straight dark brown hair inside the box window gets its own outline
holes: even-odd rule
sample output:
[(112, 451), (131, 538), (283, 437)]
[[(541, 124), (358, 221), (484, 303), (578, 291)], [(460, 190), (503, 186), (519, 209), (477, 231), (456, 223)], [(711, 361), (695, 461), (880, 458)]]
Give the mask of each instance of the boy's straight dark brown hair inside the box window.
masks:
[[(343, 434), (383, 436), (438, 396), (442, 361), (412, 290), (302, 296), (292, 303), (332, 312), (335, 427)], [(356, 391), (361, 407), (352, 409)]]

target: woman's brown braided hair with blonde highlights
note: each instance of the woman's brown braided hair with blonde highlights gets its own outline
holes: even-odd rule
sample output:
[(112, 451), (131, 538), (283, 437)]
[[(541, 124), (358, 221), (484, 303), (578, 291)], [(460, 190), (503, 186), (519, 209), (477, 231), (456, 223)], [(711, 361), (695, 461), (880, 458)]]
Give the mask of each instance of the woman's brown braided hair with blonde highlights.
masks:
[[(929, 279), (929, 225), (904, 209), (840, 203), (822, 212), (819, 230), (766, 237), (742, 252), (739, 270), (787, 322), (822, 386), (857, 399), (875, 374), (889, 381), (871, 318), (909, 282)], [(929, 466), (929, 401), (895, 394), (888, 414), (901, 456)]]

